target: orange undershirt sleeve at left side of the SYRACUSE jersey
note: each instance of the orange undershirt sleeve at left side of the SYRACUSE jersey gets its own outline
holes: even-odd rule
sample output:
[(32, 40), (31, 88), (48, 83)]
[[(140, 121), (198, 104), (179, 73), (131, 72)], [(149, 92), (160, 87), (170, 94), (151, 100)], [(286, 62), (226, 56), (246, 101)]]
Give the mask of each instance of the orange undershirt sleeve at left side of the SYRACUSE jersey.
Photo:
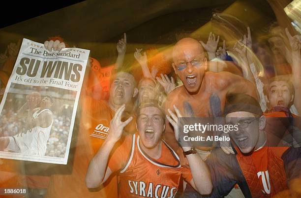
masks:
[(130, 155), (131, 144), (132, 135), (127, 135), (122, 142), (118, 142), (113, 148), (113, 153), (108, 163), (108, 167), (112, 172), (116, 172), (125, 166)]

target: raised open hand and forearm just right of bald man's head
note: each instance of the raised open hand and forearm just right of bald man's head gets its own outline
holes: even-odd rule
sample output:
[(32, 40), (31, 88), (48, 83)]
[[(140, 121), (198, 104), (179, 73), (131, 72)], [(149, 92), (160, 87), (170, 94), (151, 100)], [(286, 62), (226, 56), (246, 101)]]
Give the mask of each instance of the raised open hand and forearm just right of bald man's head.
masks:
[[(215, 40), (214, 33), (209, 34), (208, 41), (206, 44), (200, 40), (200, 43), (203, 45), (203, 47), (205, 48), (205, 50), (208, 53), (209, 61), (215, 59), (215, 57), (216, 57), (216, 49), (217, 49), (218, 41), (219, 41), (219, 36), (217, 36), (217, 38)], [(217, 61), (211, 61), (209, 70), (213, 71), (213, 72), (218, 72), (217, 64), (218, 64)]]

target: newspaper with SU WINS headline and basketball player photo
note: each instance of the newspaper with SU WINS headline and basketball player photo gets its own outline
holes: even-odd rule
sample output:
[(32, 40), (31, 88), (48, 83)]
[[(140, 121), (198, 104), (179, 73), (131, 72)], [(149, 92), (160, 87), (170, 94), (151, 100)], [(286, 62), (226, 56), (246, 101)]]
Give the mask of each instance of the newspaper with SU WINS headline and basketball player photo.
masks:
[(0, 158), (67, 164), (89, 53), (23, 39), (0, 104)]

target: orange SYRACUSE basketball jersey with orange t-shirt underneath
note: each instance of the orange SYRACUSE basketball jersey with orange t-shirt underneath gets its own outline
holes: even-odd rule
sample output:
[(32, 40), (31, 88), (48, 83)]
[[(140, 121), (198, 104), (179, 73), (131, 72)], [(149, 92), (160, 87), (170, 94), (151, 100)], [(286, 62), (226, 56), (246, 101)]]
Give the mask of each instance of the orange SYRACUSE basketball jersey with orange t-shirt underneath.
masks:
[(152, 159), (139, 139), (138, 133), (126, 136), (109, 160), (112, 172), (119, 172), (119, 198), (175, 196), (181, 178), (191, 181), (190, 169), (181, 167), (176, 152), (163, 141), (161, 157)]

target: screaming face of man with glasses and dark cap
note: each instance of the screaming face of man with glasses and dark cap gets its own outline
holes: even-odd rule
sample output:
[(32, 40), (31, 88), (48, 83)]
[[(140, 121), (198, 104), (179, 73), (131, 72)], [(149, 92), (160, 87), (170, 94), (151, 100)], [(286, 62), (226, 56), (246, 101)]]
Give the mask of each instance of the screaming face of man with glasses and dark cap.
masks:
[[(248, 154), (253, 151), (259, 140), (259, 124), (254, 114), (245, 111), (229, 113), (226, 115), (226, 123), (238, 125), (238, 131), (229, 134), (241, 152)], [(242, 126), (247, 127), (242, 129)]]

